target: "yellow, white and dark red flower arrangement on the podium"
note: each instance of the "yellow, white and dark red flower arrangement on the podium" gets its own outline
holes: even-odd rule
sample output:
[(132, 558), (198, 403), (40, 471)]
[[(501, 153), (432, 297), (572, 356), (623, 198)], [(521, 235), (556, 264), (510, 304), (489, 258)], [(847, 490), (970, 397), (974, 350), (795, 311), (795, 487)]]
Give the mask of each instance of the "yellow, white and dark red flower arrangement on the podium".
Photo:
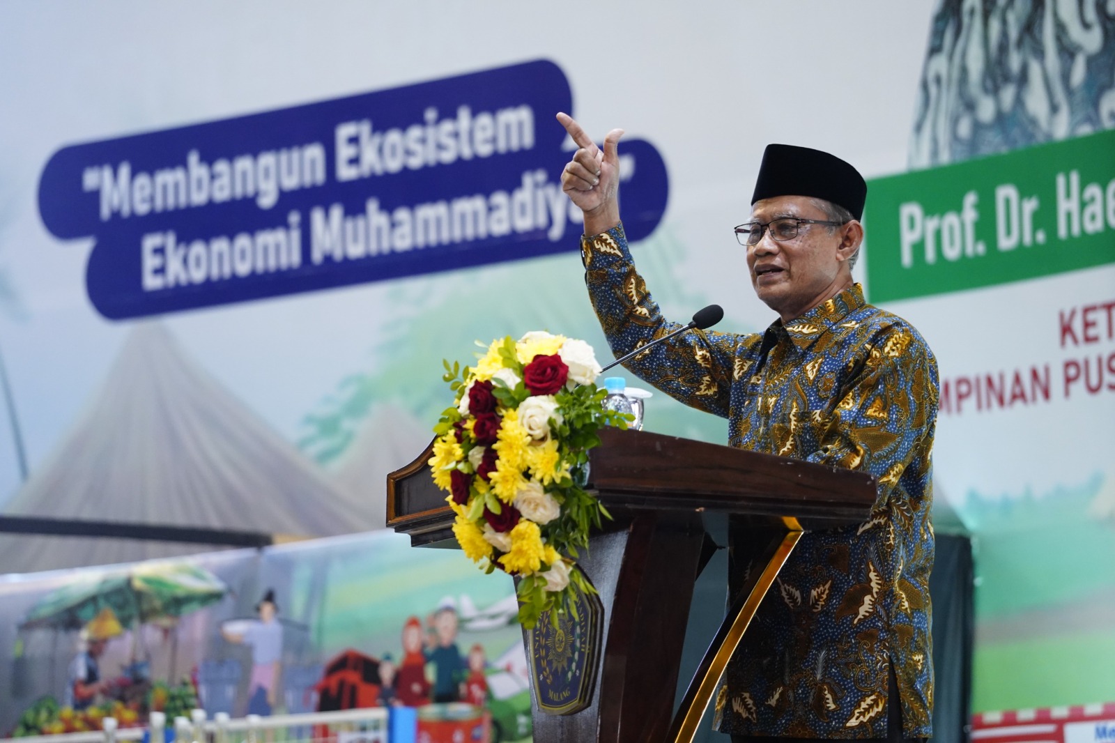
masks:
[(448, 493), (465, 554), (518, 578), (527, 628), (571, 607), (574, 588), (593, 592), (575, 569), (578, 550), (611, 517), (579, 475), (597, 431), (630, 418), (603, 409), (598, 374), (589, 344), (544, 331), (493, 340), (475, 367), (445, 361), (455, 399), (434, 427), (434, 483)]

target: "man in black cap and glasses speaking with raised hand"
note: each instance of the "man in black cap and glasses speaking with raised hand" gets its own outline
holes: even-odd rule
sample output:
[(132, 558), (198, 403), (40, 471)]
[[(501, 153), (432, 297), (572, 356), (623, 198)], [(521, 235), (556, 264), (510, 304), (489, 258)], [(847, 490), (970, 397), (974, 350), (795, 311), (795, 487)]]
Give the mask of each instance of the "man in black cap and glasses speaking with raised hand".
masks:
[[(579, 149), (562, 187), (584, 212), (585, 282), (619, 357), (679, 326), (636, 272), (620, 223), (618, 143), (603, 151), (565, 114)], [(626, 366), (728, 418), (733, 446), (860, 470), (870, 519), (804, 534), (728, 665), (716, 724), (733, 741), (924, 739), (933, 706), (930, 451), (937, 363), (906, 321), (852, 281), (867, 186), (824, 152), (769, 145), (750, 216), (735, 228), (765, 332), (689, 330)], [(746, 568), (734, 542), (733, 582)], [(736, 590), (737, 586), (733, 586)]]

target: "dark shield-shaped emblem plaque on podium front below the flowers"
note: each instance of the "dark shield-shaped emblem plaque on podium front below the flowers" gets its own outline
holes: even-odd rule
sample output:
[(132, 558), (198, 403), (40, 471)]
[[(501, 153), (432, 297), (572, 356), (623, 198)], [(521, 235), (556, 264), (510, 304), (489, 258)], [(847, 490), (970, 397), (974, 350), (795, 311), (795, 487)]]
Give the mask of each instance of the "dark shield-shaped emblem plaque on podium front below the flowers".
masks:
[(597, 685), (604, 607), (595, 594), (575, 590), (574, 597), (575, 612), (571, 608), (554, 623), (551, 612), (544, 611), (527, 633), (535, 698), (539, 708), (551, 715), (584, 710)]

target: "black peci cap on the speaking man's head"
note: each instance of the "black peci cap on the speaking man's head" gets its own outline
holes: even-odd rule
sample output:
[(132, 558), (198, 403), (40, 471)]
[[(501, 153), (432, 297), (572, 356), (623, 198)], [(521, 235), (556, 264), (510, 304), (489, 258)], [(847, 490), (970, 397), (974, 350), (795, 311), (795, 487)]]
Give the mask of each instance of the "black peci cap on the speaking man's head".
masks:
[(794, 145), (767, 145), (752, 203), (774, 196), (812, 196), (840, 204), (863, 219), (867, 184), (860, 172), (835, 155)]

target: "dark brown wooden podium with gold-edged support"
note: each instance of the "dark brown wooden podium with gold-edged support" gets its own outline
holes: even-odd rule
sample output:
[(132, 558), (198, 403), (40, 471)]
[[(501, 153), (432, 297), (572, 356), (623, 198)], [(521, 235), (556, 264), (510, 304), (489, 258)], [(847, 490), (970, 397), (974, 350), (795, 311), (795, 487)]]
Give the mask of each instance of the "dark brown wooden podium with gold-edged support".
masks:
[[(540, 698), (543, 683), (535, 678), (534, 736), (546, 743), (689, 743), (728, 658), (802, 531), (865, 521), (875, 481), (849, 470), (648, 432), (605, 428), (601, 440), (590, 455), (588, 488), (614, 519), (591, 537), (578, 561), (601, 605), (595, 624), (579, 628), (584, 653), (578, 657), (588, 664), (581, 704), (563, 707), (562, 699)], [(409, 534), (415, 546), (456, 547), (454, 514), (430, 477), (429, 456), (427, 448), (388, 475), (387, 525)], [(706, 510), (733, 514), (734, 538), (746, 533), (748, 548), (766, 568), (746, 580), (733, 579), (738, 585), (733, 606), (671, 715)], [(541, 629), (540, 624), (534, 633)], [(532, 667), (539, 658), (534, 633), (524, 630)], [(546, 641), (552, 650), (552, 638)]]

